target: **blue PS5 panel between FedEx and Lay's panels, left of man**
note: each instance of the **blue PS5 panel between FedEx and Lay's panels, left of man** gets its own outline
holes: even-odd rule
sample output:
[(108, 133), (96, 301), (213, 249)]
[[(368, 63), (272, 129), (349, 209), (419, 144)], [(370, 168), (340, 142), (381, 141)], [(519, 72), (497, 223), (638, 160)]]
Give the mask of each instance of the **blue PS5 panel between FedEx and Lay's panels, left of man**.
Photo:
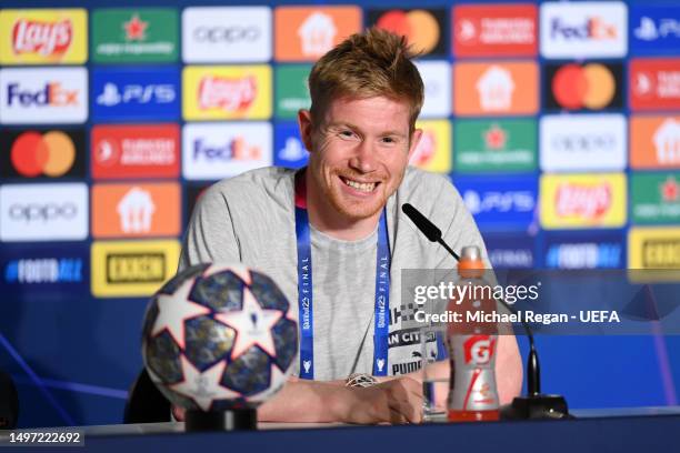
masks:
[(177, 120), (180, 74), (176, 68), (96, 69), (92, 117), (96, 120)]

